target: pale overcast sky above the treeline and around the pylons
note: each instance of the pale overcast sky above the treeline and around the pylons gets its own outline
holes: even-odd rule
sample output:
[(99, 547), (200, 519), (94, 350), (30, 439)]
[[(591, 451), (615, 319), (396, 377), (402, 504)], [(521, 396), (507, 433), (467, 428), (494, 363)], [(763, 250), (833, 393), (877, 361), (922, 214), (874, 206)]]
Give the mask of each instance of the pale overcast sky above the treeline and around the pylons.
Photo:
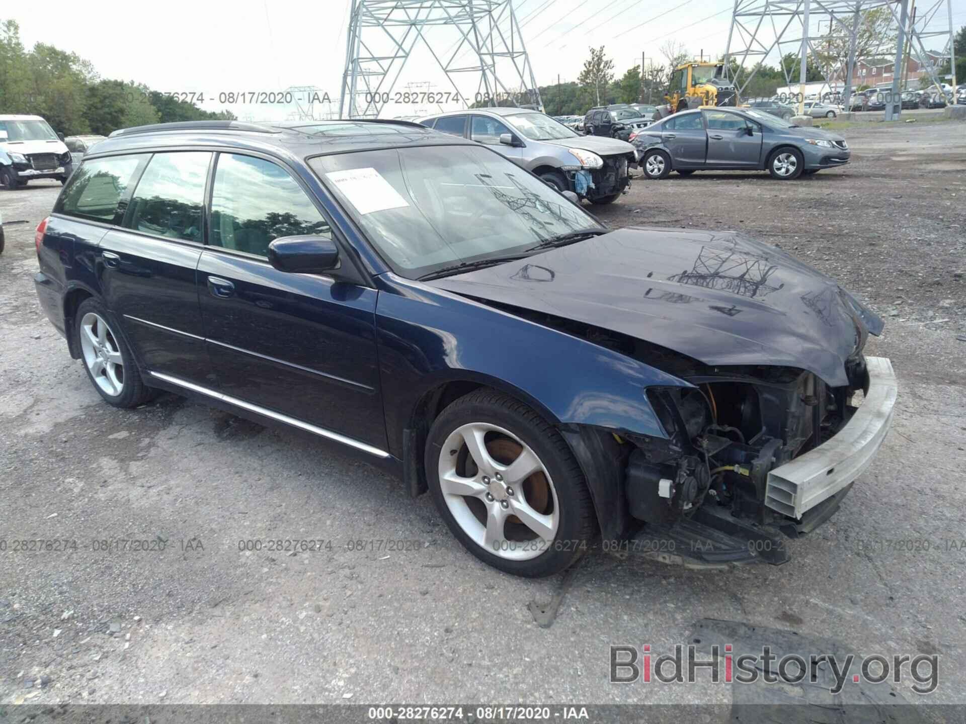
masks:
[[(928, 0), (919, 5), (924, 2)], [(966, 0), (952, 2), (953, 25), (958, 27), (966, 23)], [(229, 107), (240, 118), (268, 120), (284, 119), (295, 108), (226, 106), (218, 102), (219, 94), (318, 86), (337, 104), (349, 6), (349, 0), (20, 2), (5, 4), (0, 18), (13, 17), (20, 24), (28, 47), (49, 42), (74, 51), (91, 61), (101, 77), (135, 80), (158, 91), (203, 92), (207, 110)], [(664, 62), (660, 47), (668, 38), (684, 43), (695, 56), (703, 49), (705, 56), (717, 57), (725, 51), (731, 7), (731, 0), (514, 1), (540, 85), (555, 83), (558, 74), (563, 81), (576, 80), (590, 45), (606, 46), (618, 76), (639, 65), (641, 52), (648, 62), (652, 56), (656, 63)], [(458, 36), (453, 28), (431, 28), (426, 38), (443, 51)], [(942, 42), (933, 44), (942, 47)], [(472, 97), (476, 85), (465, 78), (459, 81), (460, 91)], [(411, 83), (451, 90), (432, 56), (418, 45), (394, 90)], [(458, 107), (449, 104), (446, 109)], [(323, 110), (317, 103), (316, 114)], [(383, 115), (430, 110), (425, 104), (392, 105)]]

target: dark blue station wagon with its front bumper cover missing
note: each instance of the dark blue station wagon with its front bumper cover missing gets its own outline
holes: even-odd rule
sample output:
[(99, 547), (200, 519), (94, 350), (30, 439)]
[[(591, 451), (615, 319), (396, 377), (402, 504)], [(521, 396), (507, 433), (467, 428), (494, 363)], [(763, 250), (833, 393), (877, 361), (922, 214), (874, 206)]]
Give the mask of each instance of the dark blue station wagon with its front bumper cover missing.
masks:
[(107, 403), (167, 390), (337, 444), (520, 575), (598, 537), (781, 563), (895, 403), (863, 355), (882, 321), (809, 266), (730, 232), (608, 231), (406, 122), (115, 132), (37, 251)]

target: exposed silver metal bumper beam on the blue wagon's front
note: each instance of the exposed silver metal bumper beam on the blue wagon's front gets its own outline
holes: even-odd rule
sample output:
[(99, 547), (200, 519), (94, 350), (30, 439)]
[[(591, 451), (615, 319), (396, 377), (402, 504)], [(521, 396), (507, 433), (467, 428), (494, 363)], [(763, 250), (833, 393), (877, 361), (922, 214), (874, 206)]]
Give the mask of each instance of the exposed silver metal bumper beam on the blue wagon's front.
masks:
[(867, 357), (866, 399), (831, 440), (768, 473), (765, 505), (801, 519), (865, 472), (893, 422), (896, 383), (892, 363)]

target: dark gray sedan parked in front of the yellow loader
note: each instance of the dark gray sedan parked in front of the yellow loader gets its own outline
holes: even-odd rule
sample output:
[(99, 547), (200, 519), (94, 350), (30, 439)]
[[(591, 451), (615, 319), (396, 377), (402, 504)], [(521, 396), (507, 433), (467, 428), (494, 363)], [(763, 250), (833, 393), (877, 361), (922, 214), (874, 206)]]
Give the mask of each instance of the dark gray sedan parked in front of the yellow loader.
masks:
[(838, 133), (799, 127), (754, 109), (679, 111), (649, 125), (631, 142), (647, 179), (671, 170), (768, 171), (787, 181), (848, 163), (851, 152)]

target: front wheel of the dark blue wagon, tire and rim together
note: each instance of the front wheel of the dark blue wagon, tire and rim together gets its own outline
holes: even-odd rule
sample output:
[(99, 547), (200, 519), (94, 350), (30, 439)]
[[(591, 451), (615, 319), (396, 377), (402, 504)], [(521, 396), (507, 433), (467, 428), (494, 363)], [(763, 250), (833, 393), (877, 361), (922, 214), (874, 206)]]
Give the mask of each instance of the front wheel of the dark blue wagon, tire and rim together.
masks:
[(426, 477), (456, 539), (484, 563), (536, 578), (573, 565), (595, 533), (581, 466), (532, 409), (480, 389), (430, 428)]

